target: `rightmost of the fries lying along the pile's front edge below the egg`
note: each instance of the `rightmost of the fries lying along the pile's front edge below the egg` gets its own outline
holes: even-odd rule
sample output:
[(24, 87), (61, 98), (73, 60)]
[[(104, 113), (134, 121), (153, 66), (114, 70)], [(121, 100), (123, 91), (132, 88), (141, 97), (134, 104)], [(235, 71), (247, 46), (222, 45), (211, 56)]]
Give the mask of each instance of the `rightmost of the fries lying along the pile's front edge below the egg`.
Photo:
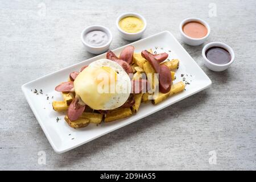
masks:
[(131, 109), (129, 107), (116, 109), (113, 111), (109, 111), (109, 113), (106, 114), (104, 122), (108, 123), (110, 121), (115, 121), (117, 119), (126, 118), (132, 114), (133, 113), (131, 112)]

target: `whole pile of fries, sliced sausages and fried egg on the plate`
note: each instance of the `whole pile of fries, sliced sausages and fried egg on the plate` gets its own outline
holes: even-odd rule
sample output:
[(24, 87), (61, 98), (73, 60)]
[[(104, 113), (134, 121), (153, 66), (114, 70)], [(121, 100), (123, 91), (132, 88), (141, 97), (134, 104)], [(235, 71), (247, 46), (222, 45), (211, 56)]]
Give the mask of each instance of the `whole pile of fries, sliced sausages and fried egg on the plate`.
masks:
[(108, 51), (106, 59), (70, 73), (67, 82), (56, 86), (64, 100), (53, 101), (53, 109), (67, 111), (68, 125), (80, 128), (129, 117), (142, 102), (159, 104), (185, 88), (183, 81), (173, 83), (179, 60), (167, 58), (167, 53), (154, 55), (151, 49), (135, 53), (133, 46), (119, 57)]

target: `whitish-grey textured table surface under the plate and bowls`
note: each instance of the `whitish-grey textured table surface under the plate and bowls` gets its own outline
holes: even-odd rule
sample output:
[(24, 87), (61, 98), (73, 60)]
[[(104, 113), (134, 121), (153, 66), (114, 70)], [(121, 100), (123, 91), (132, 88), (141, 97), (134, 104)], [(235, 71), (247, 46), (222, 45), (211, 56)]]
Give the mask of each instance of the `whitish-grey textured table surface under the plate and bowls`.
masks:
[[(214, 4), (211, 4), (214, 3)], [(216, 6), (216, 16), (212, 14)], [(256, 2), (249, 1), (0, 1), (0, 169), (256, 169)], [(20, 86), (94, 55), (80, 33), (102, 24), (110, 49), (127, 43), (115, 19), (134, 11), (148, 23), (143, 38), (196, 16), (212, 28), (207, 43), (236, 53), (225, 72), (209, 71), (201, 49), (181, 43), (213, 84), (166, 109), (64, 154), (56, 154)], [(210, 11), (210, 15), (209, 15)], [(46, 164), (38, 164), (38, 152)], [(216, 155), (215, 155), (216, 154)], [(216, 156), (216, 164), (209, 159)], [(214, 162), (214, 160), (212, 160)]]

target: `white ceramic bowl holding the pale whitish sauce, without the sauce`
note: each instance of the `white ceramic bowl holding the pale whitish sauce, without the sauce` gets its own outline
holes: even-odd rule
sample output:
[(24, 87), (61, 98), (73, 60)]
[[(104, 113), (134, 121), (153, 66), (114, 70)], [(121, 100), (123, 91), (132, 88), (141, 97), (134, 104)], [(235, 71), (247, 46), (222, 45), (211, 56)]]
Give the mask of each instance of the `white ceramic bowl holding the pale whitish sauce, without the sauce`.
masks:
[[(86, 43), (85, 39), (84, 39), (85, 35), (88, 32), (94, 31), (94, 30), (104, 31), (108, 35), (108, 38), (109, 38), (108, 43), (106, 43), (103, 46), (91, 46), (88, 43)], [(100, 26), (100, 25), (93, 25), (93, 26), (86, 27), (81, 33), (82, 44), (84, 44), (86, 51), (88, 51), (90, 53), (94, 53), (94, 54), (100, 54), (100, 53), (106, 52), (109, 49), (112, 39), (113, 39), (113, 36), (112, 36), (112, 33), (110, 32), (109, 28), (106, 28), (106, 27)]]

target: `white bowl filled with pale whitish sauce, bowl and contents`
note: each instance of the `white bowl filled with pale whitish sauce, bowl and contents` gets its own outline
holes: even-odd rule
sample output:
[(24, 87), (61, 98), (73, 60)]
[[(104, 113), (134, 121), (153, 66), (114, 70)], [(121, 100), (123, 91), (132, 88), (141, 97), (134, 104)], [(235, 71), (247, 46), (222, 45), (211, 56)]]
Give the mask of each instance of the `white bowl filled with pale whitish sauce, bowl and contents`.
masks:
[(109, 28), (100, 25), (86, 27), (81, 33), (82, 44), (86, 51), (94, 54), (106, 52), (112, 39)]

